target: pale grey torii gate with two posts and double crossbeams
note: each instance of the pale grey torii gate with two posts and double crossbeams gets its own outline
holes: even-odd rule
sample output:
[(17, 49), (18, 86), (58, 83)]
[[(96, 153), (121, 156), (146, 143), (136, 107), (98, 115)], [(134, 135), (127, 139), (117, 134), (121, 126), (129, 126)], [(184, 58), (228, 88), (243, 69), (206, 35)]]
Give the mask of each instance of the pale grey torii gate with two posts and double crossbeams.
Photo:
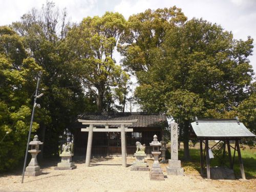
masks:
[[(126, 124), (133, 124), (137, 122), (138, 119), (133, 120), (82, 120), (78, 119), (78, 122), (82, 124), (89, 124), (87, 128), (81, 128), (81, 132), (88, 133), (87, 142), (87, 152), (86, 152), (86, 166), (90, 166), (91, 153), (92, 153), (92, 142), (93, 142), (93, 132), (121, 132), (121, 148), (122, 148), (122, 166), (126, 167), (126, 144), (125, 144), (125, 132), (133, 132), (133, 129), (128, 129), (124, 127)], [(94, 125), (104, 125), (105, 128), (100, 129), (94, 127)], [(121, 125), (121, 127), (109, 128), (109, 125)]]

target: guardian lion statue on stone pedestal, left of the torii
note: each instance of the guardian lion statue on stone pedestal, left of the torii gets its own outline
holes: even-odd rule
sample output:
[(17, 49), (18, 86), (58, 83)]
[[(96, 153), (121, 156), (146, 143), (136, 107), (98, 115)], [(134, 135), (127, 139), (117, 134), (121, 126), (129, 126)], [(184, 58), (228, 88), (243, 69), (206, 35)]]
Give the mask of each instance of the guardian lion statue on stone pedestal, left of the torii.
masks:
[(72, 153), (72, 143), (69, 142), (67, 144), (62, 145), (62, 153), (59, 154), (61, 157), (61, 162), (57, 164), (55, 170), (72, 170), (76, 168), (74, 162), (72, 162), (72, 157), (74, 154)]

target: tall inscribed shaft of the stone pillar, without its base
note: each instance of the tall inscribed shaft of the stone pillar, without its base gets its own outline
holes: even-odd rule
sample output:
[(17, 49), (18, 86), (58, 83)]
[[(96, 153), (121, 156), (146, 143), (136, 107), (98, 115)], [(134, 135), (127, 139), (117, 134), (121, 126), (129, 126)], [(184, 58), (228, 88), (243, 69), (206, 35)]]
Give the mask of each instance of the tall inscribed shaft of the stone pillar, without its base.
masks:
[(178, 160), (178, 124), (170, 123), (170, 159)]

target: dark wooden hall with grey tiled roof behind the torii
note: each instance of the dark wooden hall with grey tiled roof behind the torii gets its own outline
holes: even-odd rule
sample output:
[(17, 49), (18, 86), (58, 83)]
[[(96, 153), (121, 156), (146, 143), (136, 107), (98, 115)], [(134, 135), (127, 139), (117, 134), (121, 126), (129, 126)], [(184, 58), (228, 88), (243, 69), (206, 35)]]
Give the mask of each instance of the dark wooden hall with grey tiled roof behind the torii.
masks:
[[(78, 119), (82, 119), (81, 123)], [(73, 125), (74, 132), (74, 154), (85, 155), (87, 152), (88, 132), (81, 132), (81, 128), (89, 126), (90, 121), (108, 121), (109, 129), (120, 127), (118, 123), (111, 121), (131, 121), (138, 119), (133, 124), (125, 124), (127, 129), (133, 129), (133, 132), (126, 132), (126, 153), (127, 156), (133, 156), (136, 150), (136, 141), (142, 144), (151, 142), (154, 135), (162, 138), (162, 128), (167, 127), (167, 119), (164, 114), (146, 114), (146, 113), (86, 113), (77, 117), (77, 122)], [(97, 125), (97, 128), (104, 127)], [(146, 153), (150, 154), (151, 148), (146, 146)], [(95, 132), (93, 134), (92, 156), (121, 156), (121, 133), (120, 132)]]

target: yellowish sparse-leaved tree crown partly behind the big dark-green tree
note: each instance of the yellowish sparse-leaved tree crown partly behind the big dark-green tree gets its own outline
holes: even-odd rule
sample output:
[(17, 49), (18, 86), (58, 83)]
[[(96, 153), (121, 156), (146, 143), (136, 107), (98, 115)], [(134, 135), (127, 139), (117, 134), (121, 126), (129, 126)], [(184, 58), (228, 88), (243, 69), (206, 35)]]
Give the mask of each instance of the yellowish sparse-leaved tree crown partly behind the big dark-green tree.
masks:
[(136, 73), (139, 83), (143, 81), (143, 72), (150, 70), (156, 61), (167, 30), (183, 25), (186, 19), (181, 9), (175, 6), (156, 11), (148, 9), (129, 17), (118, 51), (124, 56), (123, 66)]

